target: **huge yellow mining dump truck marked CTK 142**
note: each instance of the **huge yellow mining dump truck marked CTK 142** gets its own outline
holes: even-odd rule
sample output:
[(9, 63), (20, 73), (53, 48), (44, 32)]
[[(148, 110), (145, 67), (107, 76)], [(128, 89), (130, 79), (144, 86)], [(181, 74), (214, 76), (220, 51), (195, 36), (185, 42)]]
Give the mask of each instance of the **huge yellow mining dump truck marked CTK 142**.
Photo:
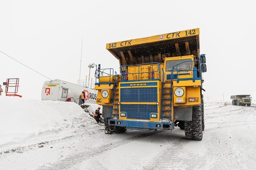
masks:
[(96, 103), (103, 105), (105, 132), (136, 130), (185, 131), (202, 140), (204, 102), (199, 29), (107, 44), (120, 62), (95, 72)]

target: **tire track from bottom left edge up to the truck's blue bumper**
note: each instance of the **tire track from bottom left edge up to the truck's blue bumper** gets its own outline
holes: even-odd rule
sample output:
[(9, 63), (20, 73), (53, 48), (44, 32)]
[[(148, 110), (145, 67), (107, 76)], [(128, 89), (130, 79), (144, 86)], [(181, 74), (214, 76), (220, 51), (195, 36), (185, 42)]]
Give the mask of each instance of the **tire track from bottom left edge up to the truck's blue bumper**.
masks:
[(147, 134), (140, 134), (132, 137), (128, 137), (126, 139), (114, 141), (114, 143), (118, 143), (118, 145), (114, 145), (112, 143), (109, 144), (104, 144), (100, 145), (94, 148), (89, 148), (86, 147), (83, 149), (83, 151), (70, 154), (68, 158), (64, 158), (61, 160), (58, 160), (57, 162), (54, 163), (47, 163), (43, 165), (42, 167), (39, 167), (38, 170), (45, 170), (45, 169), (70, 169), (74, 166), (76, 166), (78, 163), (81, 163), (85, 160), (92, 159), (95, 156), (98, 156), (102, 153), (105, 153), (106, 151), (109, 151), (114, 148), (118, 148), (120, 146), (126, 145), (128, 143), (131, 143), (132, 141), (142, 139), (144, 137), (148, 137), (151, 135), (159, 134), (162, 131), (157, 131), (157, 132), (148, 132)]

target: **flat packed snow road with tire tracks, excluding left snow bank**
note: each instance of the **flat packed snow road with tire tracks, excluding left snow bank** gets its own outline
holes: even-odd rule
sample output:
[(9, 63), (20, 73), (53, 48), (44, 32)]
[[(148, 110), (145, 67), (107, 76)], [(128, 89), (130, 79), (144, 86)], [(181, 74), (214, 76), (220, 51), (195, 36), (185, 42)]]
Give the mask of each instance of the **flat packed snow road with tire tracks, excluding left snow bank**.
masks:
[(0, 150), (0, 169), (254, 169), (255, 127), (256, 108), (225, 103), (205, 103), (202, 141), (179, 128), (107, 135), (88, 120), (61, 139)]

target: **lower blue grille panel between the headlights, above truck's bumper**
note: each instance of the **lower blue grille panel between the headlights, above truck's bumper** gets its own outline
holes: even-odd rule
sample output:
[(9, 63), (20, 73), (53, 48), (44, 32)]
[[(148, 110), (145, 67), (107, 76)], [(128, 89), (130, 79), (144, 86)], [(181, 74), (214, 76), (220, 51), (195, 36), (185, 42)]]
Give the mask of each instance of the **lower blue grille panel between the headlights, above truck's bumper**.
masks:
[(126, 112), (127, 119), (149, 120), (150, 113), (157, 113), (157, 105), (153, 104), (121, 104), (121, 111)]

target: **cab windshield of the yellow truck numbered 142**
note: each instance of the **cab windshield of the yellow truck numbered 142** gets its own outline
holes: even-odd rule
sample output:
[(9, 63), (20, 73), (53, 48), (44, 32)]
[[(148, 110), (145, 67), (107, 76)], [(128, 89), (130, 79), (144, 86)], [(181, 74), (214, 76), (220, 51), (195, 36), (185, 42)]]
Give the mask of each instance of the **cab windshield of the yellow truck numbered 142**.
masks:
[[(179, 63), (181, 63), (180, 65), (178, 65)], [(192, 70), (191, 67), (191, 59), (179, 59), (179, 60), (171, 60), (171, 61), (166, 61), (166, 71), (171, 71), (173, 70), (173, 66), (174, 67), (174, 71), (177, 71), (177, 67), (178, 67), (178, 71), (190, 71)]]

